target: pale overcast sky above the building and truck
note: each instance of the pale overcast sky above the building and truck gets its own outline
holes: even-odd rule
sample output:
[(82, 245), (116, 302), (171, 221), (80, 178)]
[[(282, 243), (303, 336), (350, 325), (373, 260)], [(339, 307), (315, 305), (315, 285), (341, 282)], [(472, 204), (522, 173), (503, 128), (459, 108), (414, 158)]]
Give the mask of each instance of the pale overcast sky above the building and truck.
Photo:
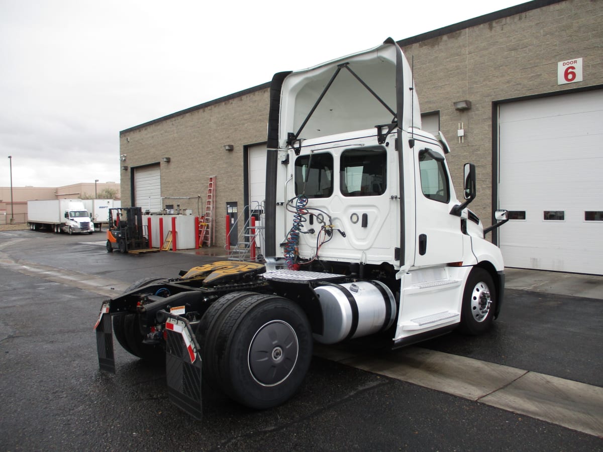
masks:
[(0, 0), (0, 186), (119, 181), (120, 130), (520, 3)]

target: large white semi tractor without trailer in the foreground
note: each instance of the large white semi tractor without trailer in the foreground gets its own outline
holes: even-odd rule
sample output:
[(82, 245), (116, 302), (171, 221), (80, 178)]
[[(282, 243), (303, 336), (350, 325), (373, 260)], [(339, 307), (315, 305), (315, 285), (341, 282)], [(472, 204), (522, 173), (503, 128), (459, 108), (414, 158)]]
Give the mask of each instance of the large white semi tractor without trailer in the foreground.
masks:
[[(216, 262), (137, 281), (96, 323), (101, 369), (113, 336), (165, 359), (171, 401), (201, 417), (213, 388), (265, 409), (300, 387), (314, 341), (401, 347), (487, 330), (504, 292), (499, 248), (456, 197), (441, 134), (421, 130), (412, 74), (391, 39), (274, 75), (268, 118), (265, 265)], [(201, 357), (203, 362), (201, 363)]]

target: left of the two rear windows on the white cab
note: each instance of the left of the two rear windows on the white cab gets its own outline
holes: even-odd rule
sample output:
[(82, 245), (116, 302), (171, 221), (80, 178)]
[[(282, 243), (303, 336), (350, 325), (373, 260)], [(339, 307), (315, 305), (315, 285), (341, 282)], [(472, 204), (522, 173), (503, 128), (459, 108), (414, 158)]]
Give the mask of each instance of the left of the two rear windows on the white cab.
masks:
[(328, 198), (333, 194), (333, 156), (303, 155), (295, 159), (295, 195)]

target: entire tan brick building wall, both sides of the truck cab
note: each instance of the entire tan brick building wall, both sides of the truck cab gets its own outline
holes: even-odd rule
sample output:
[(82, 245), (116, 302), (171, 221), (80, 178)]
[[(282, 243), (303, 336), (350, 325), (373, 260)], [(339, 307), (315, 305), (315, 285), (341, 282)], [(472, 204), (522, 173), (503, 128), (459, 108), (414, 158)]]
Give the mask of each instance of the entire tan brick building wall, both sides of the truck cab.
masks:
[[(477, 166), (478, 197), (471, 209), (489, 225), (498, 207), (492, 199), (493, 107), (508, 99), (603, 84), (603, 1), (537, 0), (399, 43), (409, 61), (414, 57), (421, 111), (440, 112), (458, 196), (463, 164)], [(569, 58), (584, 58), (584, 81), (557, 85), (557, 62)], [(244, 205), (243, 146), (266, 140), (268, 95), (265, 84), (124, 130), (122, 165), (131, 170), (170, 157), (171, 162), (160, 163), (162, 196), (193, 196), (179, 203), (195, 215), (197, 195), (203, 212), (207, 181), (216, 175), (216, 240), (223, 245), (226, 202)], [(455, 110), (453, 102), (465, 99), (472, 108)], [(456, 137), (459, 123), (466, 131), (463, 143)], [(226, 144), (234, 151), (224, 151)], [(124, 206), (131, 199), (130, 170), (121, 171)]]

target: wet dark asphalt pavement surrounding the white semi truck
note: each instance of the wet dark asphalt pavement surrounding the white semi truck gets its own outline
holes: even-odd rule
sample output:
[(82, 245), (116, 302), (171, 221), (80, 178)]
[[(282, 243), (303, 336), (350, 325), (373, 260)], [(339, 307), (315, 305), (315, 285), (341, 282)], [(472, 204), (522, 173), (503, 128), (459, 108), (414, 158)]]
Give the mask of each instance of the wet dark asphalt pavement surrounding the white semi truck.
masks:
[[(257, 412), (204, 388), (204, 419), (197, 422), (168, 402), (161, 368), (119, 346), (117, 373), (100, 372), (92, 326), (104, 298), (142, 277), (174, 276), (219, 259), (208, 255), (219, 250), (123, 256), (107, 254), (101, 240), (90, 238), (0, 233), (2, 450), (603, 448), (601, 435), (582, 428), (593, 418), (595, 427), (603, 422), (602, 300), (543, 290), (554, 287), (559, 274), (541, 283), (538, 272), (537, 287), (517, 278), (522, 287), (507, 290), (501, 315), (484, 336), (452, 333), (389, 352), (347, 344), (330, 350), (329, 359), (318, 349), (305, 383), (288, 403)], [(513, 287), (507, 274), (507, 287)], [(599, 284), (595, 290), (603, 293), (603, 278), (590, 278), (595, 284), (575, 285)], [(412, 381), (417, 374), (404, 365), (420, 372), (419, 381)], [(473, 375), (475, 369), (485, 373)], [(516, 377), (517, 369), (522, 372)], [(437, 383), (453, 371), (460, 372), (458, 380), (469, 381), (469, 395), (451, 392), (450, 381)], [(470, 395), (480, 381), (501, 375), (511, 378), (506, 393), (494, 388)], [(426, 384), (433, 381), (435, 387)], [(583, 385), (576, 397), (590, 403), (584, 425), (567, 428), (513, 410), (513, 397), (542, 386), (571, 404), (574, 396), (565, 386), (565, 392), (551, 386), (567, 381)], [(576, 406), (564, 406), (564, 413), (569, 416)]]

